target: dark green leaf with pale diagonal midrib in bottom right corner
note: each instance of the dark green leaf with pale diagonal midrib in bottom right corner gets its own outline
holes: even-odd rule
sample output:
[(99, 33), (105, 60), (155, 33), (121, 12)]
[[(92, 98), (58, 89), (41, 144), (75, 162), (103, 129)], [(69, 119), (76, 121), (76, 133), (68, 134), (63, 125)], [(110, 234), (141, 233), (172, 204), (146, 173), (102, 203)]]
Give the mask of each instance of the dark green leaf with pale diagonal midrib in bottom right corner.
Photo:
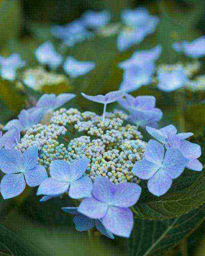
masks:
[(136, 218), (128, 240), (128, 256), (161, 255), (191, 235), (205, 220), (205, 206), (168, 220), (141, 220)]

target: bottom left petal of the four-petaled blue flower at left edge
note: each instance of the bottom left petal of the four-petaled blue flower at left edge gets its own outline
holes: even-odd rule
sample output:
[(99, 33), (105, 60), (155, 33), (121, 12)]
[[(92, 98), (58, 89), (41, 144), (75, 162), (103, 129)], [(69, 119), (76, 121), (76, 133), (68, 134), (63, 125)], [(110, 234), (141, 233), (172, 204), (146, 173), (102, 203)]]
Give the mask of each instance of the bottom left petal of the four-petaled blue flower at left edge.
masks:
[(0, 188), (4, 199), (18, 196), (26, 187), (22, 173), (6, 174), (1, 180)]

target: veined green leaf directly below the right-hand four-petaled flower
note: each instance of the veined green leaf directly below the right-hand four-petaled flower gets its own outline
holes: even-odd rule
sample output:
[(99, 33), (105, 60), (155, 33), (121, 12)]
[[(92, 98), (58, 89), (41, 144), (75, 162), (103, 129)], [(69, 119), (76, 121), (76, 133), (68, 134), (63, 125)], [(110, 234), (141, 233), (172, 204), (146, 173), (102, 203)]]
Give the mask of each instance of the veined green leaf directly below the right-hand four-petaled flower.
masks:
[[(132, 207), (134, 213), (138, 218), (160, 220), (181, 216), (200, 207), (205, 203), (204, 171), (194, 182), (193, 179), (194, 176), (179, 179), (168, 193), (161, 197), (149, 195), (148, 192), (143, 193), (141, 199)], [(183, 187), (186, 188), (181, 189)]]

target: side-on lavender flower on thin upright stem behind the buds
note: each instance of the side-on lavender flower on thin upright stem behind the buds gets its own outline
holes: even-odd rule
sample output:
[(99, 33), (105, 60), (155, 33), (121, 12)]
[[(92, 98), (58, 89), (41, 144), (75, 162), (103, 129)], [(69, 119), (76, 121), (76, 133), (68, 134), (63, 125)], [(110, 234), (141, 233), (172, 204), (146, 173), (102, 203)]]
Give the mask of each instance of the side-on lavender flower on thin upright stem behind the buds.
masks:
[(86, 95), (85, 93), (81, 93), (81, 94), (83, 95), (83, 97), (85, 97), (90, 101), (104, 104), (103, 114), (102, 114), (102, 121), (104, 121), (107, 104), (118, 101), (120, 98), (122, 98), (125, 95), (125, 90), (114, 91), (114, 92), (107, 93), (105, 95), (96, 95), (96, 96)]

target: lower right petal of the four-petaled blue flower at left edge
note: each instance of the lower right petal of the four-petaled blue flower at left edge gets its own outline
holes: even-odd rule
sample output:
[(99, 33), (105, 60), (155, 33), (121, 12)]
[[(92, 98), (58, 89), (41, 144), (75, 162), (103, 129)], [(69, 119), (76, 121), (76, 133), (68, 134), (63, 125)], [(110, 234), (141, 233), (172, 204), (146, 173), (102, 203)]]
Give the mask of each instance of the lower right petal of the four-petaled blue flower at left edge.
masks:
[(24, 172), (24, 176), (29, 187), (36, 187), (40, 185), (43, 180), (48, 178), (45, 167), (40, 164), (37, 164), (33, 169)]

